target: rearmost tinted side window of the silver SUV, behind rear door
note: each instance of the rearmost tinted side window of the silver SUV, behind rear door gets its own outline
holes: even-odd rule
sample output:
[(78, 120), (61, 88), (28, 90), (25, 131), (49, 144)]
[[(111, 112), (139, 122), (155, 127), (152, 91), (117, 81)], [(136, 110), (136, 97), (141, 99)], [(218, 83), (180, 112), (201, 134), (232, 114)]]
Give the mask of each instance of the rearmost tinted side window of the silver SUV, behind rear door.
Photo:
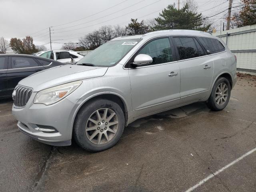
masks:
[(225, 47), (222, 45), (222, 43), (214, 38), (207, 38), (207, 37), (197, 37), (200, 43), (206, 48), (206, 50), (209, 50), (210, 54), (222, 52), (225, 50)]

